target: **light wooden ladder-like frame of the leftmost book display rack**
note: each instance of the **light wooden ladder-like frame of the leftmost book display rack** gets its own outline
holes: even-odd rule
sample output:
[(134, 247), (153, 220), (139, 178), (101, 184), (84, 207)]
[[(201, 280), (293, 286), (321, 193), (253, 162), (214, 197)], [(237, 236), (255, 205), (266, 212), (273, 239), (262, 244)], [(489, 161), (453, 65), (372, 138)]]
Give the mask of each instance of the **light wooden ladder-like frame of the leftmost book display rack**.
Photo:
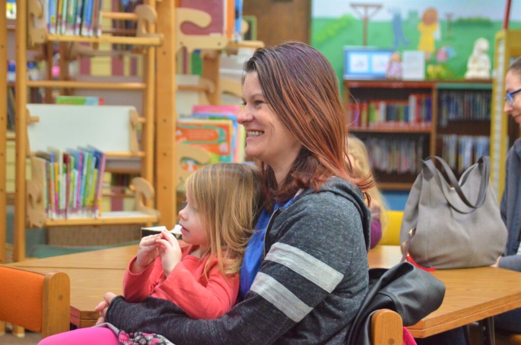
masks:
[[(157, 17), (155, 12), (155, 2), (148, 1), (145, 5), (139, 6), (134, 14), (118, 14), (104, 13), (104, 17), (120, 20), (138, 21), (138, 29), (135, 36), (115, 36), (101, 35), (95, 36), (73, 36), (73, 35), (54, 35), (49, 34), (45, 25), (38, 27), (37, 23), (42, 21), (32, 20), (42, 16), (42, 3), (38, 0), (30, 0), (29, 2), (19, 0), (17, 2), (18, 16), (16, 19), (16, 41), (29, 41), (29, 47), (25, 44), (19, 44), (16, 47), (16, 121), (15, 121), (15, 138), (16, 138), (16, 192), (15, 192), (15, 261), (24, 259), (25, 255), (25, 231), (26, 224), (30, 226), (68, 226), (68, 225), (105, 225), (105, 224), (152, 224), (158, 220), (155, 210), (150, 207), (152, 200), (143, 198), (144, 196), (153, 196), (150, 188), (154, 181), (154, 95), (155, 95), (155, 77), (154, 77), (154, 59), (156, 46), (162, 44), (162, 35), (154, 32), (154, 20)], [(33, 18), (34, 17), (34, 18)], [(31, 19), (31, 20), (30, 20)], [(40, 18), (41, 19), (41, 18)], [(3, 32), (6, 30), (3, 30)], [(144, 56), (145, 67), (143, 70), (143, 81), (139, 83), (88, 83), (70, 80), (68, 76), (68, 60), (70, 55), (71, 43), (81, 42), (90, 43), (93, 51), (97, 50), (97, 45), (101, 43), (119, 43), (132, 45), (139, 48), (139, 54)], [(47, 78), (49, 80), (27, 80), (27, 53), (29, 48), (51, 49), (52, 45), (58, 44), (61, 56), (60, 59), (60, 80), (50, 80), (51, 64), (47, 64)], [(51, 55), (52, 54), (47, 54)], [(48, 58), (48, 56), (47, 56)], [(5, 78), (3, 79), (5, 80)], [(141, 161), (140, 176), (148, 184), (149, 190), (137, 188), (137, 194), (141, 200), (147, 200), (143, 207), (137, 212), (130, 213), (103, 213), (97, 218), (69, 218), (69, 219), (47, 219), (45, 213), (41, 211), (41, 205), (38, 204), (38, 188), (35, 188), (34, 181), (26, 181), (26, 159), (30, 155), (30, 145), (28, 140), (28, 125), (34, 118), (30, 118), (29, 114), (20, 111), (27, 107), (27, 88), (45, 88), (51, 91), (53, 88), (59, 88), (61, 94), (70, 94), (70, 90), (75, 89), (97, 89), (97, 90), (139, 90), (143, 97), (143, 111), (141, 116), (135, 119), (136, 123), (143, 126), (142, 147), (140, 150), (129, 152), (107, 152), (107, 156), (114, 157), (139, 157)], [(47, 97), (50, 99), (50, 97)], [(5, 140), (2, 140), (5, 142)], [(96, 145), (96, 142), (92, 143)], [(143, 183), (138, 183), (144, 186)], [(26, 194), (28, 196), (26, 196)], [(3, 208), (4, 210), (5, 208)], [(4, 218), (5, 219), (5, 218)], [(5, 233), (5, 231), (2, 231)]]

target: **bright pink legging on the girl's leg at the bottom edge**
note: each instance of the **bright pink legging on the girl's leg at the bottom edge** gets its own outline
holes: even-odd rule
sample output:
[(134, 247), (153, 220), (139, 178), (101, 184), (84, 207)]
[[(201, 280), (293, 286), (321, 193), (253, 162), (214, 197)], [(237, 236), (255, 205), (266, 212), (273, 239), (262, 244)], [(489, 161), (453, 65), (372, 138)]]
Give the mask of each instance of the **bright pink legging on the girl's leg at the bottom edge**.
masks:
[(38, 345), (119, 345), (117, 335), (106, 327), (78, 328), (42, 339)]

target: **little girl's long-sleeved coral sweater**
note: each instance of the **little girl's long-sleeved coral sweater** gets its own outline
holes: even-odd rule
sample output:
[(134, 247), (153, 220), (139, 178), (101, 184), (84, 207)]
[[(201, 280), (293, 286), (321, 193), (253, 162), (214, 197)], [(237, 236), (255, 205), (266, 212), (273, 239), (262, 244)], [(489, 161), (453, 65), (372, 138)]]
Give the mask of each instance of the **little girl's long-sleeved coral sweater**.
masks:
[(196, 249), (190, 245), (182, 248), (181, 261), (165, 276), (161, 257), (148, 265), (143, 272), (133, 274), (130, 261), (123, 278), (123, 295), (128, 302), (142, 302), (148, 296), (165, 299), (178, 305), (192, 318), (212, 319), (226, 314), (237, 300), (239, 275), (222, 275), (217, 258), (212, 260), (208, 279), (203, 273), (209, 255), (199, 258), (190, 253)]

